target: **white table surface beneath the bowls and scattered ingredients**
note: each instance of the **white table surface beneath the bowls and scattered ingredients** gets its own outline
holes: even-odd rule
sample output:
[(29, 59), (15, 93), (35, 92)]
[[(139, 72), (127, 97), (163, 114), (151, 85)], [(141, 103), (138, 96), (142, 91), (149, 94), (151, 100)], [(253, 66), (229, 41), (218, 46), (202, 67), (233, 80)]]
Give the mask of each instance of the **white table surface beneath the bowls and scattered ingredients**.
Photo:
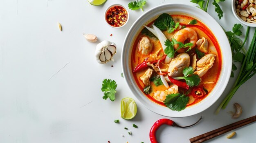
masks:
[[(0, 0), (0, 143), (150, 142), (151, 126), (166, 117), (146, 109), (121, 77), (124, 38), (144, 12), (129, 10), (130, 20), (121, 29), (111, 28), (103, 19), (110, 4), (118, 2), (127, 6), (130, 1), (108, 0), (102, 6), (92, 6), (87, 0)], [(193, 5), (189, 0), (147, 1), (145, 11), (162, 3)], [(233, 24), (238, 23), (231, 13), (231, 0), (220, 3), (225, 13), (221, 20), (211, 2), (208, 12), (224, 29), (231, 30)], [(62, 32), (57, 22), (62, 24)], [(244, 34), (245, 30), (246, 27)], [(86, 41), (82, 33), (97, 35), (97, 43), (115, 42), (115, 62), (98, 64), (94, 59), (97, 43)], [(253, 33), (254, 28), (249, 41)], [(105, 78), (117, 81), (115, 102), (102, 99), (101, 82)], [(256, 76), (241, 86), (227, 108), (215, 115), (213, 112), (234, 83), (234, 79), (230, 79), (222, 97), (204, 112), (169, 118), (180, 125), (189, 125), (202, 116), (198, 125), (187, 129), (164, 125), (157, 132), (158, 141), (189, 143), (191, 137), (255, 115), (255, 80)], [(137, 115), (130, 121), (120, 117), (120, 101), (124, 97), (137, 102)], [(238, 120), (226, 113), (234, 110), (235, 102), (243, 106)], [(120, 123), (114, 123), (115, 119)], [(139, 128), (133, 128), (133, 123)], [(124, 127), (129, 128), (132, 135), (128, 135)], [(208, 143), (255, 143), (255, 128), (253, 123), (236, 129), (233, 139), (222, 135)]]

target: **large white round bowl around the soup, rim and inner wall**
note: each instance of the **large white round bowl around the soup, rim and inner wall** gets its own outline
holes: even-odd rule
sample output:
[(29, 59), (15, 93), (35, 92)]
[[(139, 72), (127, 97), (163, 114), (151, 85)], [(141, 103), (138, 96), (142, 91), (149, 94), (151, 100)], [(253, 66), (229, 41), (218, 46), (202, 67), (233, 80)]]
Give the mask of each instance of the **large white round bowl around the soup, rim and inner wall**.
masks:
[[(215, 35), (216, 39), (219, 42), (222, 53), (222, 67), (220, 77), (218, 79), (218, 82), (216, 83), (216, 86), (209, 93), (209, 95), (205, 97), (205, 99), (203, 99), (202, 101), (193, 106), (185, 108), (180, 112), (172, 111), (171, 109), (158, 105), (157, 103), (154, 103), (153, 101), (148, 99), (139, 89), (132, 75), (132, 45), (135, 41), (136, 36), (138, 35), (138, 31), (144, 28), (143, 25), (147, 25), (152, 20), (155, 20), (162, 13), (183, 14), (200, 20), (206, 26), (208, 26), (209, 29), (211, 29), (212, 33)], [(122, 69), (126, 83), (128, 84), (130, 90), (135, 95), (135, 97), (149, 110), (166, 117), (187, 117), (194, 114), (198, 114), (209, 108), (213, 103), (215, 103), (215, 101), (221, 96), (222, 92), (225, 90), (227, 83), (229, 81), (232, 67), (232, 55), (229, 41), (221, 26), (211, 17), (211, 15), (209, 15), (205, 11), (197, 7), (185, 4), (164, 4), (154, 7), (149, 11), (145, 12), (143, 15), (141, 15), (134, 22), (134, 24), (131, 26), (130, 30), (126, 35), (122, 49), (121, 59)]]

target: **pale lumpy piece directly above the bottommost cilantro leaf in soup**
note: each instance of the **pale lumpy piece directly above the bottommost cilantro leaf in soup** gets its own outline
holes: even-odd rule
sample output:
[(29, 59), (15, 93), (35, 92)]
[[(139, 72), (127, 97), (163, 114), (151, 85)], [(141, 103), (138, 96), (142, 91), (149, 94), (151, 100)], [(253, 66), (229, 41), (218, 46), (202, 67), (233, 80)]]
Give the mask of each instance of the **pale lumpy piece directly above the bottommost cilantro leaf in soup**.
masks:
[(166, 95), (175, 94), (175, 93), (178, 93), (178, 92), (179, 92), (178, 91), (178, 86), (173, 84), (173, 86), (171, 86), (167, 90), (164, 90), (164, 91), (157, 90), (156, 92), (154, 92), (153, 93), (153, 98), (156, 99), (159, 102), (164, 102), (164, 100), (166, 99)]

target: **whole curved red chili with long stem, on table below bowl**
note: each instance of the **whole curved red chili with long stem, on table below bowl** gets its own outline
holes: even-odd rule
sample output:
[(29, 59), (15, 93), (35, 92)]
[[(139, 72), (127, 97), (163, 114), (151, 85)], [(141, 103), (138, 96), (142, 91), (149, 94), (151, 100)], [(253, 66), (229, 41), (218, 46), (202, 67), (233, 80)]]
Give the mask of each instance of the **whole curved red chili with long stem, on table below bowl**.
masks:
[(198, 123), (200, 120), (202, 119), (202, 117), (200, 117), (200, 119), (195, 122), (194, 124), (192, 125), (188, 125), (188, 126), (185, 126), (185, 127), (182, 127), (180, 125), (177, 125), (174, 121), (170, 120), (170, 119), (159, 119), (157, 120), (154, 125), (151, 127), (150, 129), (150, 132), (149, 132), (149, 139), (151, 141), (151, 143), (158, 143), (157, 142), (157, 139), (155, 137), (155, 134), (157, 132), (157, 129), (161, 126), (161, 125), (164, 125), (164, 124), (167, 124), (167, 125), (171, 125), (171, 126), (176, 126), (176, 127), (179, 127), (179, 128), (187, 128), (187, 127), (191, 127), (193, 125), (195, 125), (196, 123)]

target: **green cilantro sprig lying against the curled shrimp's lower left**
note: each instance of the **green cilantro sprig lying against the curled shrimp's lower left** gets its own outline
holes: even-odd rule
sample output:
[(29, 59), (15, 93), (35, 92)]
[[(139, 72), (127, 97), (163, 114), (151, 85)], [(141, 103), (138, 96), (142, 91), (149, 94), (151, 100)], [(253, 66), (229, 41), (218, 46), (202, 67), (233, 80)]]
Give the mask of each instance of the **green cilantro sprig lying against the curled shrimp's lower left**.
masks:
[[(164, 49), (164, 53), (168, 56), (168, 57), (171, 57), (173, 58), (174, 57), (174, 54), (180, 50), (180, 48), (189, 48), (187, 51), (191, 50), (191, 46), (193, 46), (193, 43), (189, 42), (189, 43), (186, 43), (186, 44), (183, 44), (182, 42), (178, 42), (177, 40), (175, 40), (174, 38), (172, 38), (171, 40), (166, 40), (164, 42), (166, 48)], [(174, 45), (175, 44), (178, 44), (179, 47), (174, 50)], [(186, 51), (186, 52), (187, 52)]]

